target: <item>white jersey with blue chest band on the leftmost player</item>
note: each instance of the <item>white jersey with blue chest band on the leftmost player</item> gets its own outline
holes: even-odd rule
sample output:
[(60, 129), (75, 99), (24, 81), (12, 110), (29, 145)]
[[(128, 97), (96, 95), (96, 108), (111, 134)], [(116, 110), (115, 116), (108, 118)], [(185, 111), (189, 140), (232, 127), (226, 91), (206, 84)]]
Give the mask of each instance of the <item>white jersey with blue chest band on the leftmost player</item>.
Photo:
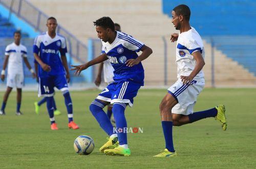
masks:
[(23, 58), (27, 57), (27, 48), (13, 42), (6, 47), (5, 55), (9, 55), (8, 73), (23, 73)]

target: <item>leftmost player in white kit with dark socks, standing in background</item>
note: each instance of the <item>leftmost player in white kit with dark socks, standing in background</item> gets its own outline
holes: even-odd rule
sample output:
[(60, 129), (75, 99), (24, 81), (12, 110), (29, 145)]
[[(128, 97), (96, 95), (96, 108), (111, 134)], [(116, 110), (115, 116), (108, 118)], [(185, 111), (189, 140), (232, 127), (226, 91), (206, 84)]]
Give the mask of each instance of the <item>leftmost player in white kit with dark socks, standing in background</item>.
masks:
[(22, 104), (22, 88), (24, 86), (24, 71), (23, 71), (23, 60), (33, 78), (35, 77), (34, 70), (31, 68), (27, 59), (27, 48), (20, 44), (20, 39), (22, 35), (19, 31), (14, 32), (14, 42), (9, 44), (5, 49), (5, 61), (3, 70), (1, 72), (2, 81), (5, 80), (5, 69), (8, 63), (7, 72), (7, 89), (4, 95), (2, 108), (0, 110), (0, 115), (5, 115), (5, 106), (12, 91), (12, 88), (17, 88), (17, 108), (16, 115), (22, 115), (20, 112), (20, 105)]

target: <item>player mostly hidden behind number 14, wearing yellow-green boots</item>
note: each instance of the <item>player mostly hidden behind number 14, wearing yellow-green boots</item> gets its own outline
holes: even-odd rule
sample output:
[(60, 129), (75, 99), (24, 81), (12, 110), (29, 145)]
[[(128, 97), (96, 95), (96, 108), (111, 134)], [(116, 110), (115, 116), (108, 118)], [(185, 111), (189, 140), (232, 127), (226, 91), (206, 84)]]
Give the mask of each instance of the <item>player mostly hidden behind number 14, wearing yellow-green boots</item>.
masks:
[[(38, 79), (38, 63), (36, 62), (36, 60), (34, 60), (34, 65), (35, 65), (36, 81), (39, 82), (39, 79)], [(42, 104), (44, 104), (46, 101), (47, 101), (47, 97), (44, 97), (40, 101), (34, 102), (35, 113), (37, 115), (39, 114), (40, 106)], [(53, 109), (54, 109), (54, 111), (53, 111), (54, 115), (60, 115), (61, 114), (61, 112), (57, 109), (54, 97), (53, 97)]]

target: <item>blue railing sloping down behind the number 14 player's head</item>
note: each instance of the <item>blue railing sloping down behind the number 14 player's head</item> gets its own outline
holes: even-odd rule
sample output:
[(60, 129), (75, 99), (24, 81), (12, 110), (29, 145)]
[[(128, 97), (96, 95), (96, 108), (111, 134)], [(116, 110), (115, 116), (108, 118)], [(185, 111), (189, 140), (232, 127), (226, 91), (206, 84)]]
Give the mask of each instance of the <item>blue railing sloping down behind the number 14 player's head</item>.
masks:
[[(0, 0), (0, 3), (9, 9), (10, 14), (14, 13), (25, 20), (38, 32), (44, 32), (49, 16), (26, 0)], [(70, 56), (78, 62), (87, 62), (88, 48), (69, 31), (58, 24), (57, 33), (66, 37), (67, 47)]]

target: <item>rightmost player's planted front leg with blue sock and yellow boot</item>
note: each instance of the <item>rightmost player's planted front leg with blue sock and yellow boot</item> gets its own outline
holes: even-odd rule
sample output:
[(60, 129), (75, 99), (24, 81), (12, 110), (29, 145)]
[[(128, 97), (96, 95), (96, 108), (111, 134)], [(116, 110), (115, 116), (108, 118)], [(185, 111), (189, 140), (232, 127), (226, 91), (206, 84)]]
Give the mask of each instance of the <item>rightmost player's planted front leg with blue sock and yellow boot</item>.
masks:
[(176, 99), (167, 93), (162, 99), (159, 109), (162, 121), (162, 128), (165, 138), (165, 149), (161, 153), (155, 155), (154, 157), (174, 157), (177, 156), (177, 153), (174, 150), (173, 145), (173, 120), (172, 120), (172, 108), (178, 102)]

